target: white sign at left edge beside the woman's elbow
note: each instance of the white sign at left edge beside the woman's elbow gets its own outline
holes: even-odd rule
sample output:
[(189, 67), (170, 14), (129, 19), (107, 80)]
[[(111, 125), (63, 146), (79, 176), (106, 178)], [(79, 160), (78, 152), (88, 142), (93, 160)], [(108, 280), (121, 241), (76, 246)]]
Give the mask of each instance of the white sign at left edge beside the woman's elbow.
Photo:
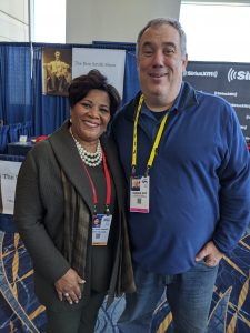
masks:
[(21, 162), (0, 160), (0, 213), (13, 214), (14, 193)]

